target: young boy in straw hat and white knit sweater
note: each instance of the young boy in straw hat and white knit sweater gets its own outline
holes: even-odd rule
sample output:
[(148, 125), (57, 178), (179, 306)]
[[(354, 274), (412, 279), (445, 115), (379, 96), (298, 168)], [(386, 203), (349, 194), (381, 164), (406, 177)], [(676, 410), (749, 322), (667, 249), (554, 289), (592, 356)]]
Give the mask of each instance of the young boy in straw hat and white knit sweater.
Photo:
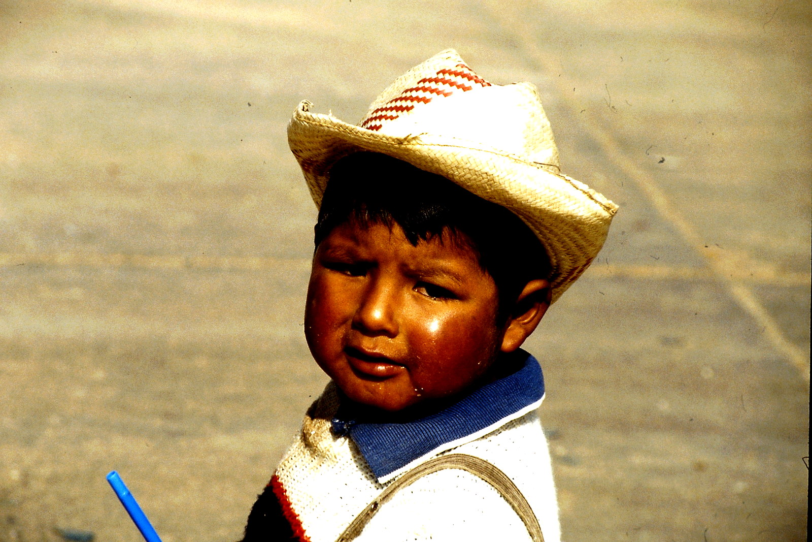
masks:
[(331, 382), (244, 541), (559, 540), (520, 345), (616, 206), (559, 172), (532, 85), (490, 85), (453, 50), (358, 126), (309, 105), (288, 138), (319, 206), (304, 325)]

